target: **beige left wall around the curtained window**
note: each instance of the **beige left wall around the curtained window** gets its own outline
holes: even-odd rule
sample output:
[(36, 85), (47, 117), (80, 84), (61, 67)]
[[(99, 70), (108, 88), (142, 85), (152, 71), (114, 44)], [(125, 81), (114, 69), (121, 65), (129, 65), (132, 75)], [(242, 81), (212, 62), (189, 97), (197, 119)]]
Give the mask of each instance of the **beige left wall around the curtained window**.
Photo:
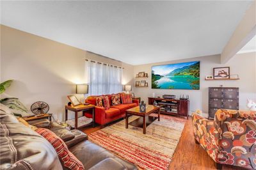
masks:
[(124, 67), (123, 83), (131, 83), (133, 66), (17, 29), (1, 26), (1, 82), (14, 79), (3, 97), (17, 97), (30, 108), (42, 100), (63, 118), (67, 95), (86, 82), (84, 59)]

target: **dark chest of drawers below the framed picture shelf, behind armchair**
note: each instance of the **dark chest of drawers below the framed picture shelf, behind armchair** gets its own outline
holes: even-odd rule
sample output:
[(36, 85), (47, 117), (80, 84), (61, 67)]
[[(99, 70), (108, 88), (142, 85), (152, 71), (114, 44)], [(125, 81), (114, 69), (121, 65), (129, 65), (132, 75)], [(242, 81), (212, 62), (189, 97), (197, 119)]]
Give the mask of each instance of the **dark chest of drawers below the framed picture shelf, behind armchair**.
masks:
[(218, 109), (239, 109), (239, 88), (209, 88), (209, 119)]

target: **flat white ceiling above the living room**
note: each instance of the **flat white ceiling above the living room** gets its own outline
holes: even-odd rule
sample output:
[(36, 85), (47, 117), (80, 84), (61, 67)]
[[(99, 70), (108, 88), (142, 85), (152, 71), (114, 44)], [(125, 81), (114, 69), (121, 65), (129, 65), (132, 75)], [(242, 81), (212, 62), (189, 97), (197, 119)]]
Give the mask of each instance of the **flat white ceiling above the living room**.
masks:
[(1, 24), (132, 65), (220, 54), (252, 1), (1, 1)]

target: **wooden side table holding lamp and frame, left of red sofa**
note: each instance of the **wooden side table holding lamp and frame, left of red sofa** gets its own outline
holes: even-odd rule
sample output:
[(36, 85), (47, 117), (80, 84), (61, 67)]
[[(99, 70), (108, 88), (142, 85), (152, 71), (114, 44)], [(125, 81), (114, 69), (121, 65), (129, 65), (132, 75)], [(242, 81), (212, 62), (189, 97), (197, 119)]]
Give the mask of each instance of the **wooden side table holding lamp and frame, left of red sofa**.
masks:
[[(94, 123), (95, 123), (95, 105), (76, 105), (76, 106), (71, 106), (71, 105), (65, 105), (65, 121), (68, 120), (68, 111), (73, 111), (75, 112), (75, 129), (77, 128), (81, 128), (81, 127), (87, 127), (89, 125), (92, 125), (94, 127)], [(77, 112), (83, 112), (84, 111), (92, 111), (92, 123), (83, 125), (81, 127), (78, 127), (77, 125), (77, 120), (78, 120), (78, 116), (77, 116)]]

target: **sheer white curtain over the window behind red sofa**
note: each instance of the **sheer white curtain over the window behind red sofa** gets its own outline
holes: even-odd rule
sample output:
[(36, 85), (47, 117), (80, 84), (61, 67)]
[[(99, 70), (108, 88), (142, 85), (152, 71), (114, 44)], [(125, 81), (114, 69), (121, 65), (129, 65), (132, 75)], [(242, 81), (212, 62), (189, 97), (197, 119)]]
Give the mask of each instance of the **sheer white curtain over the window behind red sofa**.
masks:
[(122, 68), (92, 61), (85, 62), (89, 95), (107, 95), (122, 91)]

